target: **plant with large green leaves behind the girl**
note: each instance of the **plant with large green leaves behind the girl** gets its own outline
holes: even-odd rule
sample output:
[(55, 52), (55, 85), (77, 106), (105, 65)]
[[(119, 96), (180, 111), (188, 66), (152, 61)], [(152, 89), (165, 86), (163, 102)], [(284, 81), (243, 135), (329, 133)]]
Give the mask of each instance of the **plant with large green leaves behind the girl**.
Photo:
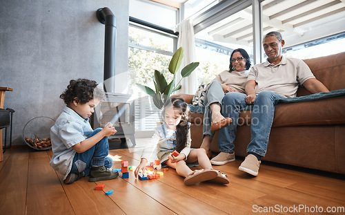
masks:
[[(148, 93), (148, 95), (152, 97), (152, 100), (158, 109), (162, 109), (164, 107), (171, 93), (181, 88), (181, 85), (179, 85), (179, 83), (181, 82), (182, 79), (175, 86), (175, 73), (176, 71), (179, 70), (179, 67), (181, 66), (181, 61), (183, 58), (184, 58), (184, 48), (180, 47), (179, 49), (176, 50), (174, 55), (172, 55), (172, 58), (169, 63), (169, 68), (168, 68), (169, 72), (174, 75), (174, 77), (172, 78), (172, 81), (169, 84), (168, 82), (166, 82), (166, 78), (164, 77), (164, 75), (157, 70), (155, 70), (155, 77), (153, 77), (153, 83), (155, 84), (155, 91), (152, 90), (152, 88), (148, 86), (137, 84), (139, 88), (141, 88), (143, 91), (145, 91), (146, 93)], [(181, 77), (182, 78), (188, 77), (195, 70), (195, 68), (197, 68), (197, 66), (199, 66), (199, 62), (193, 62), (191, 64), (188, 64), (184, 68), (182, 68)]]

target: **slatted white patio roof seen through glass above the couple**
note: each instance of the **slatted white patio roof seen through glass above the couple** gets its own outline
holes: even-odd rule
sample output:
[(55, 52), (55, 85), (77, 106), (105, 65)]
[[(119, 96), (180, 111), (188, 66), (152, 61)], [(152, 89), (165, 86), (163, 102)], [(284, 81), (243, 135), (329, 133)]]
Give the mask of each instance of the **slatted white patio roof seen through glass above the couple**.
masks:
[[(232, 4), (234, 8), (236, 2), (245, 1), (226, 2), (228, 2), (228, 8), (231, 8)], [(251, 1), (248, 3), (250, 4)], [(216, 5), (202, 15), (194, 17), (193, 24), (197, 37), (244, 46), (253, 44), (252, 6), (246, 6), (232, 15), (228, 9), (228, 12), (221, 15), (224, 8), (224, 6), (222, 8), (218, 6), (217, 11)], [(215, 21), (206, 22), (205, 18), (215, 19)], [(264, 35), (273, 30), (282, 32), (286, 46), (345, 32), (345, 0), (262, 1), (262, 28)]]

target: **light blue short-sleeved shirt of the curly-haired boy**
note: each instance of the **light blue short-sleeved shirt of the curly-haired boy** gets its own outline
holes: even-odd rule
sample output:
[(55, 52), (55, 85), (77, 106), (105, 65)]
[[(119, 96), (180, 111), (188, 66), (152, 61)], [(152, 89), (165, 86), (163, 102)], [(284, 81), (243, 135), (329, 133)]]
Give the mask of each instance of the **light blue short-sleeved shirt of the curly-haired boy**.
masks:
[(72, 146), (85, 140), (92, 131), (89, 118), (81, 118), (78, 113), (68, 106), (65, 106), (63, 112), (50, 129), (52, 152), (54, 153), (52, 160), (50, 160), (50, 166), (59, 174), (63, 174), (63, 180), (70, 173), (76, 153)]

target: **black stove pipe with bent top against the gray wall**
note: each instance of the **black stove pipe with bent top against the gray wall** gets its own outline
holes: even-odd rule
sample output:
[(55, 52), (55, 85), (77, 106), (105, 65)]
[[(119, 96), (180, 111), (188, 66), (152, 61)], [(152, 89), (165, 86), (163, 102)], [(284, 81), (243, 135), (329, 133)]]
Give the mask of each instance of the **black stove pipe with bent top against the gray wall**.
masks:
[(96, 16), (101, 24), (106, 25), (104, 39), (104, 90), (109, 93), (115, 93), (116, 18), (109, 8), (99, 8)]

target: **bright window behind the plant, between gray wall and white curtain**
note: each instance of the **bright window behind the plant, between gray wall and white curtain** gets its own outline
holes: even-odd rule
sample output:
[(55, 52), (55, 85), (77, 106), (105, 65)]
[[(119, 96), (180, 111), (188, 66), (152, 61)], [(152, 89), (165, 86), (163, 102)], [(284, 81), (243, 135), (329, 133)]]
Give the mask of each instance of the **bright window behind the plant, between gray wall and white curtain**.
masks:
[(128, 28), (128, 69), (130, 74), (130, 93), (135, 97), (135, 131), (153, 131), (156, 122), (161, 122), (159, 110), (152, 98), (141, 91), (136, 84), (154, 89), (155, 70), (172, 80), (168, 64), (174, 53), (175, 35), (168, 35), (146, 26), (131, 24)]

